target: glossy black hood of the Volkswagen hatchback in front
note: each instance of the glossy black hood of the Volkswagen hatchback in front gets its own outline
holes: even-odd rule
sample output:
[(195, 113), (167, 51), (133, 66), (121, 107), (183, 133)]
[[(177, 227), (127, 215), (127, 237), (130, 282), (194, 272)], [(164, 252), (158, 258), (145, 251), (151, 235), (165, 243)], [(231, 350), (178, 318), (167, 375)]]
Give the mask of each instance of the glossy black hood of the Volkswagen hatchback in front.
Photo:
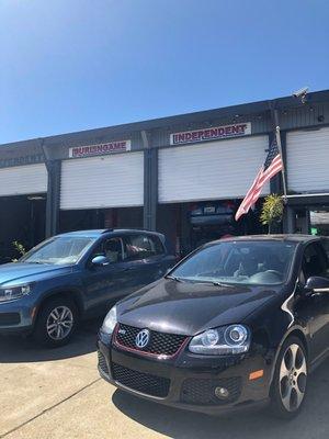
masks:
[(215, 286), (161, 279), (117, 304), (118, 322), (169, 334), (195, 335), (217, 326), (242, 323), (280, 289)]

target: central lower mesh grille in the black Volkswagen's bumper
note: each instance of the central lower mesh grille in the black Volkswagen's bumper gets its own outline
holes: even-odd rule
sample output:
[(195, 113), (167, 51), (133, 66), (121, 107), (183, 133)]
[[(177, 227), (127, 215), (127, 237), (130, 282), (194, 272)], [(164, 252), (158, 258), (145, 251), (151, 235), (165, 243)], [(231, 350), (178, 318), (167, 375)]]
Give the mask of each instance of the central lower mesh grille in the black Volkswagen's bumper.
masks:
[(164, 398), (169, 393), (170, 380), (167, 378), (138, 372), (116, 363), (112, 363), (112, 374), (118, 384), (146, 395)]

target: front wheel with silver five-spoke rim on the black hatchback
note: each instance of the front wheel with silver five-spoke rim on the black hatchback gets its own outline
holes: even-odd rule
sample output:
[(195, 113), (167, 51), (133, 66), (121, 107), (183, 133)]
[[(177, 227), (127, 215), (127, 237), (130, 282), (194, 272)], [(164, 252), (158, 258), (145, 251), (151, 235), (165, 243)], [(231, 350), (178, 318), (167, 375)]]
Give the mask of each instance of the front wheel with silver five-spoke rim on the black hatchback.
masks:
[(288, 337), (279, 353), (271, 387), (271, 412), (283, 419), (294, 418), (307, 395), (308, 359), (298, 337)]

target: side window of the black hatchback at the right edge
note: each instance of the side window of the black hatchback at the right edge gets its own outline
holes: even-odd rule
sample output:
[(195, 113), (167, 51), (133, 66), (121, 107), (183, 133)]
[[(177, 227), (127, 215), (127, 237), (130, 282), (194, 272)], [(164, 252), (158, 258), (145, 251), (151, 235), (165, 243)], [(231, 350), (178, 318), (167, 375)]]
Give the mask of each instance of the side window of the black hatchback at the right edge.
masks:
[(311, 275), (329, 278), (328, 256), (320, 241), (309, 244), (304, 250), (302, 261), (302, 280)]

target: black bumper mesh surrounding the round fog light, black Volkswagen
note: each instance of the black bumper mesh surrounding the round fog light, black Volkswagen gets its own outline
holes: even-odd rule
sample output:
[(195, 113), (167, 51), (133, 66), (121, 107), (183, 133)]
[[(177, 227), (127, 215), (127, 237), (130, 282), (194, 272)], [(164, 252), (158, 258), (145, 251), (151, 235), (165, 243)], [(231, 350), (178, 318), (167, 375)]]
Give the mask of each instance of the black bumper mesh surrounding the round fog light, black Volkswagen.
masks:
[[(218, 398), (216, 387), (227, 389), (228, 397)], [(241, 378), (186, 379), (181, 389), (181, 402), (194, 405), (225, 405), (234, 403), (241, 394)]]

